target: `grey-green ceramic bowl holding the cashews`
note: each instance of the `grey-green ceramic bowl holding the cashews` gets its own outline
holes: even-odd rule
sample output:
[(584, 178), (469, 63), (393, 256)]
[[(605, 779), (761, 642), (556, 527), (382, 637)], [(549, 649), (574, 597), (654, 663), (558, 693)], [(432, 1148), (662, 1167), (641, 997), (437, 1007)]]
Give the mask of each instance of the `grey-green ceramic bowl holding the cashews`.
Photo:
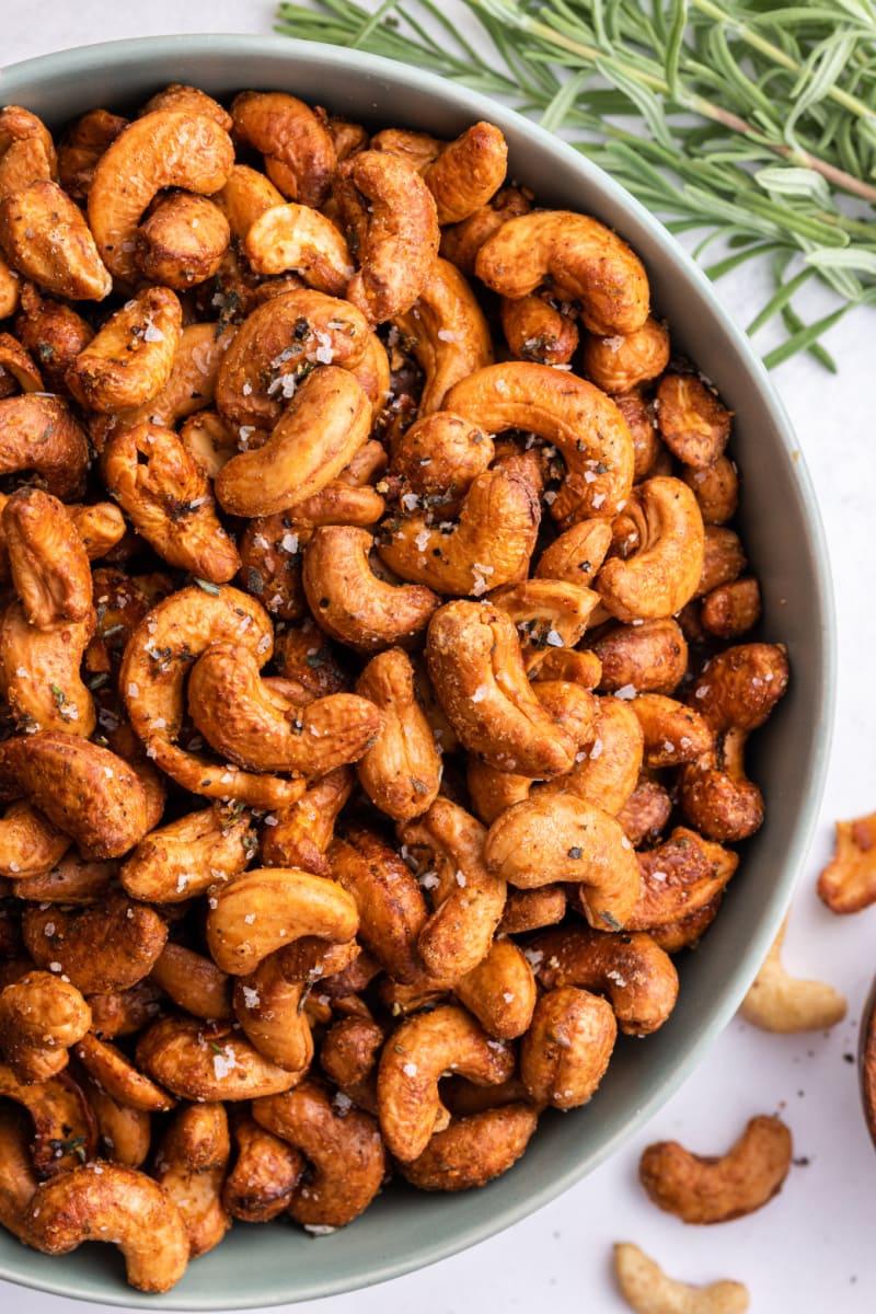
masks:
[(344, 1292), (420, 1268), (490, 1236), (567, 1189), (617, 1151), (676, 1089), (733, 1016), (772, 941), (818, 809), (834, 689), (834, 622), (818, 510), (788, 419), (760, 363), (712, 286), (623, 188), (577, 151), (483, 96), (357, 51), (263, 37), (167, 37), (70, 50), (7, 68), (3, 102), (59, 129), (95, 105), (133, 108), (171, 81), (217, 96), (284, 89), (373, 126), (454, 137), (487, 118), (504, 131), (510, 176), (541, 204), (584, 210), (616, 227), (649, 272), (653, 302), (735, 411), (733, 453), (745, 473), (743, 536), (763, 587), (763, 637), (791, 653), (788, 696), (753, 753), (767, 823), (700, 953), (680, 964), (668, 1024), (645, 1042), (621, 1038), (586, 1108), (548, 1116), (520, 1163), (461, 1196), (387, 1189), (351, 1227), (313, 1240), (293, 1226), (239, 1223), (167, 1296), (123, 1285), (121, 1257), (84, 1246), (47, 1259), (0, 1236), (0, 1276), (46, 1292), (154, 1310), (276, 1305)]

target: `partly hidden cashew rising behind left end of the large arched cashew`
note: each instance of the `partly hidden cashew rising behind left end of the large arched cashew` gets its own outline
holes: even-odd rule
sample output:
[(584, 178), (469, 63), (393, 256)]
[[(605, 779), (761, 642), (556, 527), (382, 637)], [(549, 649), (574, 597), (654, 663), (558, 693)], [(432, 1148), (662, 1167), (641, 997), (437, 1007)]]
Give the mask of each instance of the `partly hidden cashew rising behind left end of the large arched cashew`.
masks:
[(465, 275), (437, 259), (410, 310), (394, 325), (426, 374), (418, 414), (431, 415), (444, 405), (453, 384), (493, 364), (490, 326)]

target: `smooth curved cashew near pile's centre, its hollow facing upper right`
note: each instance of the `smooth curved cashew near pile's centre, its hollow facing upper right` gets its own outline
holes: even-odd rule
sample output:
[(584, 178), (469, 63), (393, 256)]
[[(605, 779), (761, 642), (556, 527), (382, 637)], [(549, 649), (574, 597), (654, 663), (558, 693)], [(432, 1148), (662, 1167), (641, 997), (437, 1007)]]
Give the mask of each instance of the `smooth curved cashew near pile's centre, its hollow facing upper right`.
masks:
[(374, 539), (355, 526), (322, 526), (305, 552), (303, 586), (319, 628), (359, 652), (410, 643), (440, 604), (423, 585), (393, 585), (370, 566)]

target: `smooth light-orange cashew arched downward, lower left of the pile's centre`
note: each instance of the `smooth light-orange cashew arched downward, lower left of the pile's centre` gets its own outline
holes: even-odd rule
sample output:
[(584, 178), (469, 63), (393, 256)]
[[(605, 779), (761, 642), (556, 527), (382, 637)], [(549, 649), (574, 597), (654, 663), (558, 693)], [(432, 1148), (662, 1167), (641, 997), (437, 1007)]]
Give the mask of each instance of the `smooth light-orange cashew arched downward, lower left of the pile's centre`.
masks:
[(352, 895), (334, 880), (294, 867), (248, 871), (218, 887), (213, 904), (206, 925), (210, 953), (234, 976), (251, 972), (274, 949), (301, 936), (343, 943), (359, 928)]

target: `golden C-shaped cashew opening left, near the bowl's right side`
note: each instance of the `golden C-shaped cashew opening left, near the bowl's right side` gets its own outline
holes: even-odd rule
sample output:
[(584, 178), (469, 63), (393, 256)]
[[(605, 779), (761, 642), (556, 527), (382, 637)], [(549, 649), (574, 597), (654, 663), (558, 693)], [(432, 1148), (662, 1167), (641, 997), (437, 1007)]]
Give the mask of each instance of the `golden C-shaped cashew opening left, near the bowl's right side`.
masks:
[(620, 620), (672, 616), (691, 600), (703, 574), (696, 498), (680, 480), (658, 477), (633, 489), (624, 515), (638, 532), (637, 551), (626, 560), (611, 557), (595, 589)]

